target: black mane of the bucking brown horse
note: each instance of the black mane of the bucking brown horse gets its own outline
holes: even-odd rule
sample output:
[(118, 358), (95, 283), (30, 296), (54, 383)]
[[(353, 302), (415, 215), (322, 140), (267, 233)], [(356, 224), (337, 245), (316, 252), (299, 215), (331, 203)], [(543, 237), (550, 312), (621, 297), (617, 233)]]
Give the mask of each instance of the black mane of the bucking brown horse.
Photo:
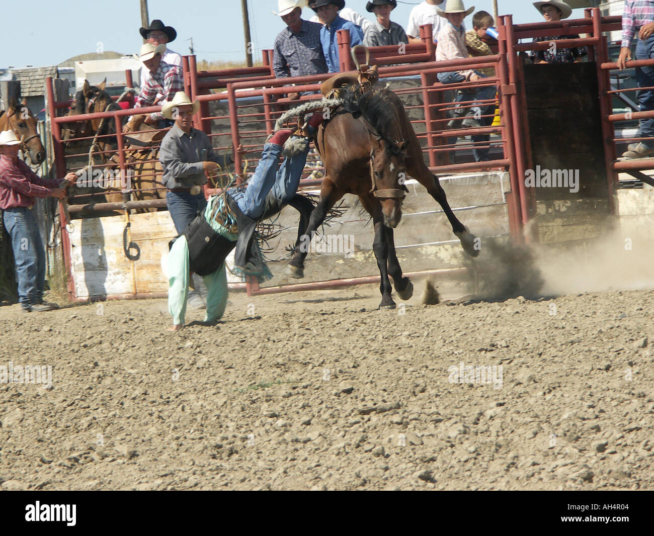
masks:
[(402, 150), (392, 139), (392, 133), (398, 131), (398, 118), (393, 103), (387, 99), (390, 90), (371, 90), (362, 93), (358, 85), (343, 86), (343, 109), (357, 119), (363, 116), (364, 120), (373, 128), (373, 134), (385, 142), (388, 152), (399, 156)]

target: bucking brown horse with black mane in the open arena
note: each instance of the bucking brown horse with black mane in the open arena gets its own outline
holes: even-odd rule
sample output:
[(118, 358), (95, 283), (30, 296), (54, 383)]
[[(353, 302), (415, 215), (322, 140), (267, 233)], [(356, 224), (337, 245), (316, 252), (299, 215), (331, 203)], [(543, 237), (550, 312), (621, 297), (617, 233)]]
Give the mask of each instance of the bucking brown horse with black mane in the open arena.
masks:
[[(343, 76), (343, 75), (339, 75)], [(323, 94), (329, 80), (323, 84)], [(307, 235), (313, 238), (325, 215), (345, 193), (358, 195), (375, 226), (373, 250), (381, 274), (381, 309), (396, 307), (391, 297), (388, 275), (402, 299), (413, 295), (413, 284), (402, 276), (393, 239), (393, 229), (402, 218), (405, 178), (412, 176), (443, 207), (452, 230), (464, 250), (477, 256), (475, 237), (458, 221), (447, 203), (438, 177), (432, 175), (422, 158), (422, 149), (399, 97), (390, 90), (362, 93), (358, 84), (342, 90), (343, 105), (318, 128), (316, 146), (325, 165), (320, 201), (311, 214)], [(289, 275), (304, 276), (307, 248), (296, 247)]]

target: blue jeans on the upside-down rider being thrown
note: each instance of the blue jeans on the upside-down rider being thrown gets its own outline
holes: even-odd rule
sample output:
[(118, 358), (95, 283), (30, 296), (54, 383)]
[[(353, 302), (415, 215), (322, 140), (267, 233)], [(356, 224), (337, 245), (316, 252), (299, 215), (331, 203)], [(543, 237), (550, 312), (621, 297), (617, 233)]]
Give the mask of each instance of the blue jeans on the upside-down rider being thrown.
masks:
[(301, 154), (284, 159), (277, 171), (282, 150), (283, 146), (274, 143), (264, 145), (264, 152), (254, 170), (254, 175), (247, 183), (247, 188), (229, 190), (230, 196), (239, 205), (241, 212), (252, 220), (256, 220), (264, 212), (268, 192), (272, 192), (277, 199), (288, 203), (298, 191), (302, 170), (307, 162), (309, 144)]

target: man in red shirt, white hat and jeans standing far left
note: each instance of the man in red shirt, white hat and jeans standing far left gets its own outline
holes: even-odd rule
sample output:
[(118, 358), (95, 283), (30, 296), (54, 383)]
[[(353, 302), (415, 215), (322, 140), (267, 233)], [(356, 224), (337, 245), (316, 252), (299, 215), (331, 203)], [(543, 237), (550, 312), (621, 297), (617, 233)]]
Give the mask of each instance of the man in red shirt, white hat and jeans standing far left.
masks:
[[(18, 159), (19, 150), (20, 141), (13, 131), (0, 133), (0, 210), (14, 252), (18, 299), (25, 312), (58, 309), (55, 303), (43, 301), (45, 249), (31, 209), (36, 197), (63, 199), (66, 193), (60, 180), (35, 175)], [(68, 173), (64, 179), (72, 184), (77, 175)]]

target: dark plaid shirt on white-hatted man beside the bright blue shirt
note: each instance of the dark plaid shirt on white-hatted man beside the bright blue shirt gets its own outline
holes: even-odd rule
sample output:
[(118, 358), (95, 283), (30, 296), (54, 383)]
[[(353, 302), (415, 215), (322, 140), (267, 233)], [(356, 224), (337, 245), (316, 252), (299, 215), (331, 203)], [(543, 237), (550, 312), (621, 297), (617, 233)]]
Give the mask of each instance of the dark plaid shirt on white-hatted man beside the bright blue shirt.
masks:
[(320, 29), (322, 25), (302, 21), (300, 31), (293, 33), (288, 26), (275, 39), (273, 69), (277, 78), (320, 75), (327, 72), (322, 54)]

